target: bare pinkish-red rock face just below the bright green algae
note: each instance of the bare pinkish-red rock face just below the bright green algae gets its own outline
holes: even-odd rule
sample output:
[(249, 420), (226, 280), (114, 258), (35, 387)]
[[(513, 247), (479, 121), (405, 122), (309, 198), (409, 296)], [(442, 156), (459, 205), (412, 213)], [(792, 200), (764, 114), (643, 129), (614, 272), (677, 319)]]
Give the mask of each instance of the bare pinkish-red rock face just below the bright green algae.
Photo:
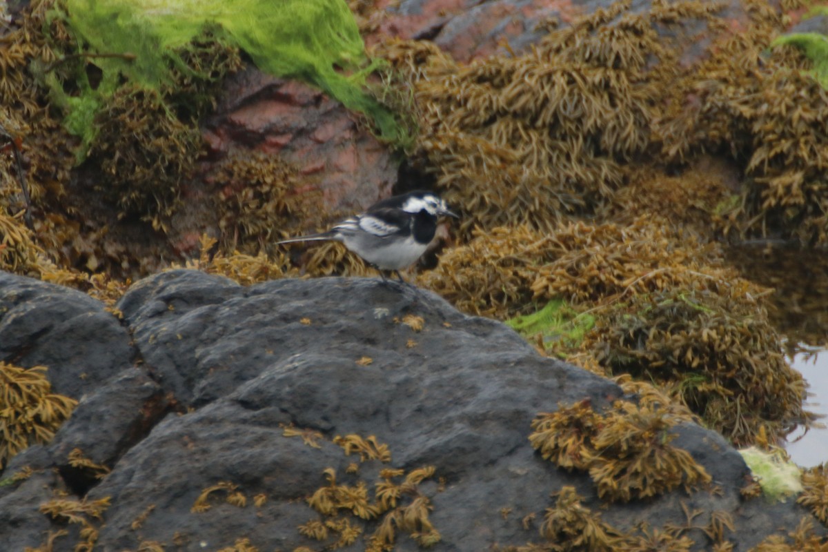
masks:
[[(231, 77), (204, 134), (219, 154), (247, 147), (294, 164), (310, 178), (308, 190), (322, 190), (331, 213), (367, 207), (388, 194), (397, 178), (391, 151), (341, 103), (254, 68)], [(370, 154), (363, 155), (366, 149)]]

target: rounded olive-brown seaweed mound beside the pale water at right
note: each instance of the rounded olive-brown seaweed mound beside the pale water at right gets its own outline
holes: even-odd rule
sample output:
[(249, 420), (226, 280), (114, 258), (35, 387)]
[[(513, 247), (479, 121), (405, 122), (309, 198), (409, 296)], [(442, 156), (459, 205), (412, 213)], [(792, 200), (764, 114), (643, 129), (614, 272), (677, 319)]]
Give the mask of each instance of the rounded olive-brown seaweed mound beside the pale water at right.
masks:
[(775, 443), (811, 419), (806, 383), (763, 307), (729, 285), (631, 295), (603, 311), (582, 348), (612, 374), (664, 387), (735, 444)]

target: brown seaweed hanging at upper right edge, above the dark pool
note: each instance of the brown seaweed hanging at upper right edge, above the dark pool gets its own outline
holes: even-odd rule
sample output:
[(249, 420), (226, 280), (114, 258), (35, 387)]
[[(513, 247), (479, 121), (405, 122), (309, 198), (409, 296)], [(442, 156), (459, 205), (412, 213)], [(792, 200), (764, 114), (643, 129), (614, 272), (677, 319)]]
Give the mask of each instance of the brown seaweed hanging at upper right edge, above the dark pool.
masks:
[(738, 164), (739, 189), (715, 212), (724, 234), (824, 245), (826, 90), (811, 71), (821, 61), (780, 36), (790, 17), (764, 2), (746, 4), (745, 31), (717, 43), (677, 82), (683, 95), (665, 112), (663, 151), (672, 161), (710, 151)]

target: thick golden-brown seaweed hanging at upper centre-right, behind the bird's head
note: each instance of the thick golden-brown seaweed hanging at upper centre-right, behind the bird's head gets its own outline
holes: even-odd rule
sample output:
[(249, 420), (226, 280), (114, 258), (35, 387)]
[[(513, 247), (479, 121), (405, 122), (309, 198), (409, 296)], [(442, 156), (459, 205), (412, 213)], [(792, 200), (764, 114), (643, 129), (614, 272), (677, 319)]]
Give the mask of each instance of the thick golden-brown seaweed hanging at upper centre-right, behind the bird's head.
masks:
[(411, 81), (420, 113), (416, 154), (475, 226), (553, 228), (591, 214), (623, 185), (622, 164), (651, 146), (677, 53), (657, 26), (706, 18), (712, 5), (629, 2), (551, 32), (531, 52), (455, 64), (426, 42), (378, 49)]

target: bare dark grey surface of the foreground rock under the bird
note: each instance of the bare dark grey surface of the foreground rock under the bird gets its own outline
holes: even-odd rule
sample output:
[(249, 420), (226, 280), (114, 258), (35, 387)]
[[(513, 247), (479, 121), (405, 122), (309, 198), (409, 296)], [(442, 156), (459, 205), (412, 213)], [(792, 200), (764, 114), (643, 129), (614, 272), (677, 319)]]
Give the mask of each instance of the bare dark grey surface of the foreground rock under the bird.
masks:
[[(41, 348), (60, 350), (67, 336), (33, 323), (25, 326), (33, 332), (26, 339), (9, 313), (42, 310), (55, 318), (46, 308), (53, 303), (98, 312), (94, 300), (75, 291), (3, 275), (6, 305), (13, 289), (39, 290), (18, 294), (13, 309), (0, 314), (2, 335), (13, 325), (15, 343), (31, 343), (31, 358), (44, 358), (36, 356)], [(51, 444), (18, 454), (0, 474), (5, 480), (24, 467), (34, 470), (0, 486), (0, 542), (14, 543), (7, 550), (42, 545), (50, 531), (67, 531), (55, 538), (55, 551), (87, 538), (82, 524), (38, 511), (56, 492), (86, 504), (108, 498), (100, 520), (87, 516), (98, 531), (94, 550), (137, 550), (149, 541), (165, 550), (219, 550), (241, 539), (258, 550), (317, 550), (336, 537), (320, 543), (298, 527), (330, 519), (306, 500), (329, 485), (326, 468), (339, 485), (362, 482), (373, 501), (383, 468), (410, 473), (434, 466), (434, 476), (418, 487), (441, 535), (433, 550), (540, 541), (544, 511), (554, 504), (550, 493), (565, 485), (623, 530), (643, 521), (685, 523), (683, 508), (702, 511), (700, 525), (714, 511), (727, 512), (734, 532), (726, 538), (738, 550), (810, 517), (791, 501), (744, 501), (739, 489), (747, 471), (739, 454), (692, 424), (675, 428), (673, 444), (705, 467), (710, 488), (602, 509), (587, 475), (543, 460), (527, 435), (537, 413), (585, 399), (602, 409), (622, 398), (619, 387), (543, 358), (503, 324), (460, 314), (412, 286), (324, 278), (242, 287), (197, 271), (169, 271), (137, 282), (118, 308), (123, 325), (107, 315), (120, 329), (109, 334), (120, 337), (88, 339), (89, 357), (123, 350), (139, 360), (116, 357), (113, 373), (83, 380), (89, 387)], [(5, 360), (23, 358), (7, 338), (0, 343)], [(55, 381), (59, 372), (89, 369), (73, 355), (59, 361), (48, 372)], [(285, 428), (299, 434), (286, 436)], [(349, 434), (388, 444), (390, 461), (344, 454), (332, 440)], [(73, 449), (112, 471), (94, 478), (71, 467)], [(203, 496), (222, 482), (229, 485)], [(535, 520), (524, 525), (532, 514)], [(380, 523), (348, 511), (339, 518), (363, 530), (344, 550), (363, 550)], [(701, 530), (688, 535), (698, 550), (709, 545)], [(396, 544), (396, 550), (417, 548), (402, 531)]]

